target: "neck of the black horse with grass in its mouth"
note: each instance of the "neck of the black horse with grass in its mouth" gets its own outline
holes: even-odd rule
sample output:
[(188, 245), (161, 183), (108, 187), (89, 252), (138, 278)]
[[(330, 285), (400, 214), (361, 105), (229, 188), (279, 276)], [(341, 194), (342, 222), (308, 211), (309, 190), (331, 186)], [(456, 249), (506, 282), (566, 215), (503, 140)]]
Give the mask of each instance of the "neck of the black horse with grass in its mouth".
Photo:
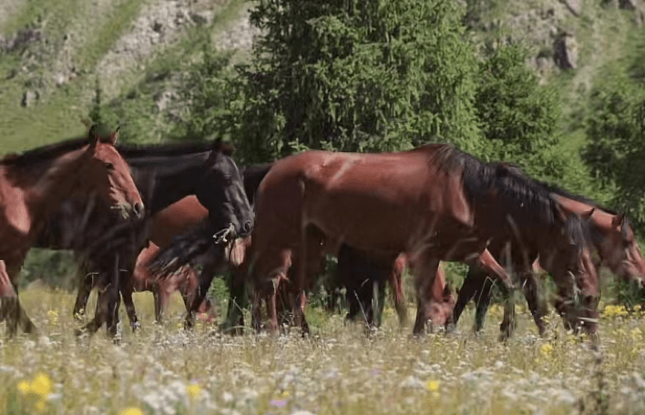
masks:
[(127, 158), (144, 203), (154, 214), (184, 197), (195, 195), (210, 152), (177, 157)]

